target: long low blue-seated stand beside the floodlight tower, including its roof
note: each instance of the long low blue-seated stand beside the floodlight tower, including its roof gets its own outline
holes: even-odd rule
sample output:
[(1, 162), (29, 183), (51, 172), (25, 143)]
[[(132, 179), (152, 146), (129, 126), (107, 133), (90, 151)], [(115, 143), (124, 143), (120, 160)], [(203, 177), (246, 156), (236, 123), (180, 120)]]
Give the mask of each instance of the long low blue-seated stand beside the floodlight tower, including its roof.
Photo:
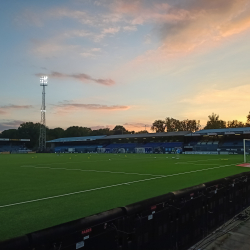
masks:
[[(169, 133), (124, 134), (111, 136), (85, 136), (59, 138), (47, 143), (51, 144), (52, 152), (97, 152), (105, 148), (102, 153), (135, 153), (136, 148), (145, 148), (145, 153), (157, 149), (160, 152), (172, 152), (176, 147), (183, 146), (184, 135), (187, 131)], [(169, 142), (167, 142), (169, 141)]]

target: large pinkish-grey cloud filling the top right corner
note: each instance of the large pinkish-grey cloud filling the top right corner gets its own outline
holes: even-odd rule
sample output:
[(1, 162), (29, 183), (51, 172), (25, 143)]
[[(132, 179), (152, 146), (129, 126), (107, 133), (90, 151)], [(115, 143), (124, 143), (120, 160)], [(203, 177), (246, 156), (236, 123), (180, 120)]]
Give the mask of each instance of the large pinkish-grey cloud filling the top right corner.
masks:
[[(248, 0), (118, 1), (113, 11), (130, 17), (131, 24), (154, 23), (161, 53), (190, 53), (214, 46), (225, 37), (250, 28)], [(151, 58), (149, 58), (151, 60)]]

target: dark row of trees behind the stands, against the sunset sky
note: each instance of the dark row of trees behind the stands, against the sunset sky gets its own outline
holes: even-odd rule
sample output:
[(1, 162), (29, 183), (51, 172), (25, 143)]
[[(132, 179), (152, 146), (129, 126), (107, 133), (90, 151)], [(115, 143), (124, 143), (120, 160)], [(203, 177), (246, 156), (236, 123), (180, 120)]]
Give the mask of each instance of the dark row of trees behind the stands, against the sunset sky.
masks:
[[(204, 129), (219, 129), (219, 128), (238, 128), (250, 127), (250, 112), (247, 115), (246, 123), (238, 120), (223, 121), (219, 115), (212, 113), (208, 116), (208, 121)], [(201, 129), (199, 120), (178, 120), (171, 117), (166, 117), (165, 120), (155, 120), (151, 126), (153, 132), (175, 132), (175, 131), (198, 131)], [(20, 124), (17, 129), (7, 129), (0, 133), (0, 138), (10, 139), (30, 139), (30, 148), (38, 147), (38, 139), (40, 133), (40, 123), (25, 122)], [(113, 129), (100, 128), (92, 130), (88, 127), (71, 126), (67, 129), (46, 127), (47, 141), (63, 137), (80, 137), (80, 136), (98, 136), (98, 135), (119, 135), (119, 134), (141, 134), (148, 133), (147, 130), (139, 132), (129, 131), (124, 126), (117, 125)]]

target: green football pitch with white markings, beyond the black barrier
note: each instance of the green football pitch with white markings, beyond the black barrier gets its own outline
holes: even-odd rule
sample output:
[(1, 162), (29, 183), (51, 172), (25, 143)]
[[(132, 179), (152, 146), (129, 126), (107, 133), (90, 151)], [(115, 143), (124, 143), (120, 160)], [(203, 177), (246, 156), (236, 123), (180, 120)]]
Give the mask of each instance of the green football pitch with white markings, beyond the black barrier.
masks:
[(249, 171), (242, 155), (0, 155), (0, 240)]

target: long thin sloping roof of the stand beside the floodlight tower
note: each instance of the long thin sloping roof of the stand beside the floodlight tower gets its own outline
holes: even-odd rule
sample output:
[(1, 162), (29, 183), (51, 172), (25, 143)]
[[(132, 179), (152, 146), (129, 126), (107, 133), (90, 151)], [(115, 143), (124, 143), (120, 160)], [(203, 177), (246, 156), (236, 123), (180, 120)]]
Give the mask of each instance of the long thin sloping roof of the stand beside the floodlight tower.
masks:
[(101, 135), (101, 136), (83, 136), (83, 137), (68, 137), (59, 138), (47, 142), (77, 142), (77, 141), (94, 141), (100, 139), (124, 139), (124, 138), (153, 138), (153, 137), (169, 137), (169, 136), (185, 136), (190, 131), (179, 132), (162, 132), (162, 133), (145, 133), (145, 134), (124, 134), (124, 135)]

